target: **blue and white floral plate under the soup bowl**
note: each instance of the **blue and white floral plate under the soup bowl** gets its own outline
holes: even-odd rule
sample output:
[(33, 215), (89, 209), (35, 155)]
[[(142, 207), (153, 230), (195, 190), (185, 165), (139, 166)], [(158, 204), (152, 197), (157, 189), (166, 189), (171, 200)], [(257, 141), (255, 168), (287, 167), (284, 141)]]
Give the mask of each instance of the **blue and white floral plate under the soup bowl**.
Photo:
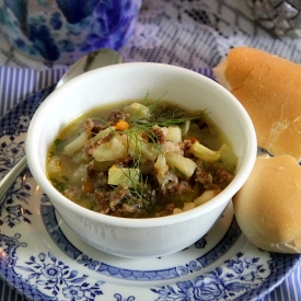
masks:
[[(51, 89), (0, 119), (1, 177), (24, 154), (31, 117)], [(251, 244), (232, 205), (207, 235), (182, 252), (148, 259), (115, 257), (78, 239), (28, 170), (0, 201), (0, 276), (33, 300), (256, 300), (279, 286), (299, 259)]]

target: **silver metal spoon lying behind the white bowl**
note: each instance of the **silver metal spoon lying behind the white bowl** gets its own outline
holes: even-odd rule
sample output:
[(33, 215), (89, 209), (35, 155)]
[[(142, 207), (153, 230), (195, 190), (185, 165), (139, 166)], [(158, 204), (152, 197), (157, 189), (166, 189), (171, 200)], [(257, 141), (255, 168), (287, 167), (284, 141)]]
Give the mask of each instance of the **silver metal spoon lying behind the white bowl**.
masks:
[[(80, 58), (76, 61), (68, 71), (62, 76), (62, 78), (57, 83), (56, 88), (61, 86), (67, 81), (84, 73), (90, 70), (120, 63), (124, 62), (124, 58), (115, 50), (112, 49), (100, 49), (88, 54), (86, 56)], [(12, 170), (0, 181), (0, 200), (5, 196), (9, 188), (15, 182), (16, 177), (23, 172), (27, 166), (26, 155), (24, 155)]]

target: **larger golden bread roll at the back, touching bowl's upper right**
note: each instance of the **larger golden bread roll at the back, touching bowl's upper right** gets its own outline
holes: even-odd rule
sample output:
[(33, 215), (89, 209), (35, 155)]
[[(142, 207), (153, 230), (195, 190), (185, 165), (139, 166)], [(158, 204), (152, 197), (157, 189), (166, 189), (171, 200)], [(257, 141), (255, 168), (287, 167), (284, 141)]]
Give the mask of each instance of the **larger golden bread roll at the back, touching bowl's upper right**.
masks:
[(246, 108), (258, 146), (301, 159), (301, 66), (248, 47), (236, 47), (213, 68), (216, 79)]

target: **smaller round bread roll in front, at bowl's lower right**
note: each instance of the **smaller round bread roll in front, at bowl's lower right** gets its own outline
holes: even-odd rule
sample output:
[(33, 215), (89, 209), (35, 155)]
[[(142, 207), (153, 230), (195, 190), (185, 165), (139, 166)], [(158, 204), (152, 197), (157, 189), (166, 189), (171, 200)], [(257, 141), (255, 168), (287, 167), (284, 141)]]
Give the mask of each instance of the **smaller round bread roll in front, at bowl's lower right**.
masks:
[(301, 253), (301, 166), (291, 155), (258, 157), (233, 208), (242, 232), (256, 246)]

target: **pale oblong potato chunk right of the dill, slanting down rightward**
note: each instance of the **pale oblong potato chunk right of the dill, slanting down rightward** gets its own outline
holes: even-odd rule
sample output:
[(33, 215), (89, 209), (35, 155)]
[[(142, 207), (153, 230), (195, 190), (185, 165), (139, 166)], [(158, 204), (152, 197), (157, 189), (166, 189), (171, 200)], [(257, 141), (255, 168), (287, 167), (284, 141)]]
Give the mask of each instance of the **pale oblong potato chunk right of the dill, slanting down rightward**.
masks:
[(197, 164), (189, 158), (185, 158), (177, 152), (167, 152), (164, 154), (170, 167), (177, 169), (187, 180), (190, 178)]

